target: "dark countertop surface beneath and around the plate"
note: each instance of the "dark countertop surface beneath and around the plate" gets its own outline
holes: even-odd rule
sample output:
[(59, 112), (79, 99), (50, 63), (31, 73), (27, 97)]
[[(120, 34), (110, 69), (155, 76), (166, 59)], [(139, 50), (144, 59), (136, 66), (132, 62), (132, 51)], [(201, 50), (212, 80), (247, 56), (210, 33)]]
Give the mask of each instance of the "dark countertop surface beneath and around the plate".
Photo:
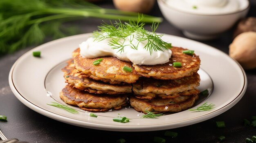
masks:
[[(252, 6), (247, 16), (256, 16), (256, 1), (251, 0), (251, 2)], [(100, 3), (99, 5), (113, 8), (111, 3)], [(162, 17), (157, 5), (150, 14)], [(83, 33), (90, 33), (96, 30), (100, 23), (101, 20), (99, 19), (89, 18), (69, 24), (77, 24)], [(166, 20), (159, 24), (157, 32), (184, 37), (180, 30)], [(223, 33), (216, 40), (200, 42), (228, 53), (229, 44), (232, 42), (231, 37), (232, 29)], [(14, 54), (0, 57), (0, 67), (2, 67), (0, 73), (0, 114), (6, 115), (8, 118), (7, 122), (0, 121), (0, 129), (8, 139), (17, 138), (30, 143), (90, 143), (115, 142), (117, 139), (124, 138), (127, 143), (144, 143), (153, 142), (154, 136), (159, 136), (165, 138), (166, 142), (173, 143), (216, 143), (218, 136), (223, 135), (226, 136), (225, 143), (245, 143), (246, 138), (256, 136), (256, 128), (243, 126), (243, 119), (256, 116), (256, 70), (246, 71), (248, 87), (243, 98), (234, 107), (207, 121), (171, 129), (173, 132), (178, 132), (178, 136), (172, 139), (164, 136), (164, 130), (110, 132), (81, 128), (50, 119), (29, 109), (11, 92), (8, 75), (13, 63), (31, 48), (34, 47), (28, 47)], [(225, 121), (226, 128), (216, 128), (215, 121)]]

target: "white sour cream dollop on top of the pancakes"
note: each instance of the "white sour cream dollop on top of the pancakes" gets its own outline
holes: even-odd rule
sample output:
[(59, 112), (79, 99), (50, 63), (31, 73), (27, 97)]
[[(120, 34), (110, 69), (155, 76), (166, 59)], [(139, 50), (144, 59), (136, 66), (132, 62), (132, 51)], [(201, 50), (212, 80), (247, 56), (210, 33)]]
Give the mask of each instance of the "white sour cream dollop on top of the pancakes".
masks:
[[(119, 51), (119, 48), (113, 49), (113, 46), (109, 45), (112, 38), (97, 41), (94, 37), (90, 37), (85, 42), (79, 44), (80, 55), (85, 58), (112, 56), (137, 65), (155, 65), (169, 62), (172, 54), (170, 49), (163, 51), (153, 50), (150, 55), (150, 52), (144, 48), (148, 41), (139, 42), (134, 38), (135, 36), (136, 33), (133, 33), (124, 38), (123, 41), (119, 41), (120, 43), (124, 43), (124, 51)], [(137, 49), (131, 48), (130, 46), (132, 45), (136, 45)]]

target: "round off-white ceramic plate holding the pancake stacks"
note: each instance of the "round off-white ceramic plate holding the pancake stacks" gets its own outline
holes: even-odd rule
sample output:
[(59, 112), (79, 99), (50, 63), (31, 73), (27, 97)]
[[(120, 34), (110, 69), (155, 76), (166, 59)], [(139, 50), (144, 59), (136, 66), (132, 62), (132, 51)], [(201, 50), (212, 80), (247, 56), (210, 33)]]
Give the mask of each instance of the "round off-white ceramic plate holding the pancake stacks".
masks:
[[(127, 106), (118, 111), (96, 113), (98, 117), (94, 118), (88, 116), (88, 112), (76, 107), (70, 106), (78, 110), (79, 114), (47, 105), (51, 102), (65, 104), (59, 98), (59, 92), (65, 86), (61, 68), (65, 66), (65, 61), (72, 57), (72, 51), (89, 36), (90, 33), (54, 40), (22, 55), (13, 64), (9, 73), (9, 84), (14, 95), (32, 110), (58, 121), (85, 128), (130, 132), (178, 128), (216, 117), (234, 106), (243, 97), (247, 88), (243, 68), (227, 54), (200, 42), (164, 35), (162, 37), (164, 41), (194, 50), (195, 54), (200, 56), (199, 90), (208, 89), (210, 95), (201, 98), (193, 108), (208, 102), (216, 105), (213, 110), (204, 112), (185, 110), (174, 114), (167, 113), (158, 119), (144, 119), (140, 118), (143, 113)], [(33, 57), (33, 51), (41, 51), (41, 57)], [(45, 89), (51, 94), (47, 94)], [(117, 116), (130, 118), (130, 122), (112, 121), (113, 117)]]

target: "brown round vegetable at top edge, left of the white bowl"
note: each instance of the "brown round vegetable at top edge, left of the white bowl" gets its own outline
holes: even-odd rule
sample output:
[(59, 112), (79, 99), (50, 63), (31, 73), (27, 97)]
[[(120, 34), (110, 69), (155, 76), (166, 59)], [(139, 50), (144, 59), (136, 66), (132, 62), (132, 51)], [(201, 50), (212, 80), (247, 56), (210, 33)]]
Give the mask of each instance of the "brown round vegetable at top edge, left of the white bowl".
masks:
[(113, 0), (117, 9), (139, 13), (148, 13), (154, 6), (155, 0)]

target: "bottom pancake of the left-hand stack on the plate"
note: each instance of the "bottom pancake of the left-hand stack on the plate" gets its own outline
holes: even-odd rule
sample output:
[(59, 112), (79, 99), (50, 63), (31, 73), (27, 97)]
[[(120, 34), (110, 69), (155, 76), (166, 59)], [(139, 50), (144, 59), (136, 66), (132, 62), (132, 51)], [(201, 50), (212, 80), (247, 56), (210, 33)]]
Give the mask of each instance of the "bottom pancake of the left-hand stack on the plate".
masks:
[(104, 95), (92, 94), (85, 91), (65, 86), (60, 92), (61, 99), (70, 105), (79, 106), (83, 110), (102, 112), (112, 108), (118, 110), (125, 106), (128, 101), (128, 95)]

